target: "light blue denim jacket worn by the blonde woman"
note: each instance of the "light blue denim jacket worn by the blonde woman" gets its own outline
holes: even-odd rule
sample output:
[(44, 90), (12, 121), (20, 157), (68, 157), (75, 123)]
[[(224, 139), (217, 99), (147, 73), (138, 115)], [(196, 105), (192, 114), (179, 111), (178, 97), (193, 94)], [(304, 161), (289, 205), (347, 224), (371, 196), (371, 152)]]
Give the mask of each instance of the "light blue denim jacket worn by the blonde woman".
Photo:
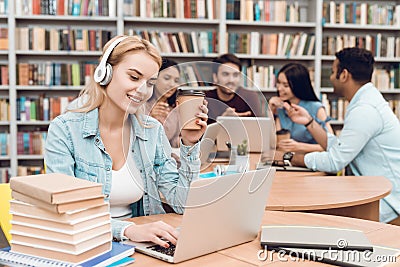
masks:
[[(64, 173), (103, 184), (108, 201), (112, 159), (101, 140), (98, 117), (98, 109), (94, 109), (87, 113), (67, 112), (55, 118), (48, 130), (45, 162), (48, 173)], [(200, 172), (199, 144), (181, 144), (178, 170), (162, 125), (151, 117), (141, 118), (144, 126), (130, 115), (134, 133), (131, 149), (144, 185), (144, 214), (165, 213), (160, 192), (177, 213), (183, 213), (190, 183)], [(114, 238), (124, 238), (123, 231), (130, 224), (111, 220)]]

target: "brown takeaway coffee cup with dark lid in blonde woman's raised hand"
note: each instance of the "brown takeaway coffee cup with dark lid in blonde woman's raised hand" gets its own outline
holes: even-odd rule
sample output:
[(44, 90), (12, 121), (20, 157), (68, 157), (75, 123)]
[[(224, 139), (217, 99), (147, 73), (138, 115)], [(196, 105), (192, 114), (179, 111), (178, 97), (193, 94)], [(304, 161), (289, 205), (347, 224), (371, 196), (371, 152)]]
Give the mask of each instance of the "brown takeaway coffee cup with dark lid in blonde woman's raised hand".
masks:
[(201, 126), (196, 124), (196, 114), (201, 112), (205, 94), (195, 88), (180, 89), (176, 97), (176, 105), (179, 109), (181, 129), (198, 130)]

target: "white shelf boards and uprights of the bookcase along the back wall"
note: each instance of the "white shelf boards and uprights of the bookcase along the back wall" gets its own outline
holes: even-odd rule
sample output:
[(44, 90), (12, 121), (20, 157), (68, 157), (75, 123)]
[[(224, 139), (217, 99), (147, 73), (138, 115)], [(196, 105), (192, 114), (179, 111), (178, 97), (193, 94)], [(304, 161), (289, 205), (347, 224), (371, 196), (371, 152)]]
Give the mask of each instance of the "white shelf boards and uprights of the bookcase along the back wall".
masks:
[[(268, 55), (262, 53), (237, 53), (239, 58), (243, 61), (245, 66), (266, 66), (273, 65), (275, 70), (289, 61), (300, 62), (314, 71), (314, 88), (319, 95), (320, 93), (327, 94), (328, 99), (334, 99), (336, 96), (330, 86), (321, 86), (321, 75), (323, 69), (329, 68), (334, 60), (334, 56), (323, 53), (324, 38), (327, 36), (338, 36), (343, 34), (382, 34), (383, 36), (400, 36), (400, 22), (396, 25), (360, 25), (352, 23), (331, 23), (324, 17), (324, 8), (326, 5), (332, 5), (331, 2), (336, 4), (340, 3), (364, 3), (365, 1), (324, 1), (324, 0), (298, 0), (287, 1), (287, 3), (294, 3), (301, 7), (302, 16), (301, 22), (260, 22), (260, 21), (243, 21), (227, 19), (227, 11), (231, 12), (233, 0), (206, 0), (197, 1), (210, 5), (213, 3), (213, 12), (215, 16), (205, 19), (185, 19), (185, 18), (171, 18), (171, 17), (149, 17), (146, 14), (149, 9), (146, 4), (153, 3), (153, 1), (140, 1), (132, 0), (136, 5), (129, 6), (138, 12), (137, 16), (129, 16), (126, 13), (127, 3), (129, 0), (108, 0), (111, 7), (111, 13), (115, 16), (56, 16), (56, 15), (22, 15), (21, 12), (15, 12), (16, 6), (20, 7), (23, 0), (8, 0), (8, 15), (0, 15), (0, 24), (8, 28), (8, 42), (9, 49), (0, 51), (0, 63), (8, 64), (9, 66), (9, 85), (0, 86), (0, 97), (8, 98), (10, 103), (10, 120), (0, 122), (0, 132), (9, 132), (9, 155), (0, 156), (0, 167), (9, 166), (11, 175), (17, 174), (19, 165), (42, 165), (42, 155), (18, 155), (17, 153), (17, 132), (19, 131), (32, 131), (37, 128), (46, 130), (48, 121), (17, 121), (17, 98), (20, 96), (36, 96), (45, 93), (49, 96), (68, 96), (77, 95), (82, 86), (22, 86), (18, 85), (17, 65), (21, 62), (76, 62), (76, 61), (97, 61), (101, 55), (101, 51), (34, 51), (34, 50), (18, 50), (19, 47), (17, 40), (16, 28), (20, 27), (42, 27), (46, 29), (51, 28), (70, 28), (70, 29), (107, 29), (113, 31), (115, 34), (124, 34), (131, 30), (147, 30), (158, 32), (201, 32), (201, 31), (214, 31), (217, 38), (216, 51), (199, 52), (199, 53), (174, 53), (163, 52), (165, 57), (173, 58), (178, 62), (187, 61), (210, 61), (219, 54), (229, 51), (229, 38), (230, 33), (250, 33), (258, 32), (259, 34), (297, 34), (306, 33), (315, 36), (314, 53), (311, 55)], [(237, 3), (248, 5), (249, 2), (265, 3), (268, 1), (250, 1), (250, 0), (234, 0)], [(28, 1), (29, 2), (29, 1)], [(175, 1), (154, 1), (166, 7), (167, 3), (185, 3), (193, 2), (188, 0), (175, 0)], [(278, 2), (272, 0), (271, 2)], [(366, 1), (368, 4), (389, 4), (400, 5), (400, 1)], [(65, 2), (67, 3), (67, 2)], [(115, 7), (115, 9), (113, 9)], [(171, 8), (171, 7), (170, 7)], [(243, 9), (243, 10), (242, 10)], [(199, 9), (197, 9), (199, 10)], [(241, 12), (246, 12), (245, 8), (240, 8)], [(265, 11), (265, 10), (264, 10)], [(152, 11), (154, 12), (154, 10)], [(193, 11), (192, 11), (193, 12)], [(206, 12), (206, 13), (204, 13)], [(208, 9), (202, 10), (200, 13), (209, 15)], [(254, 12), (254, 10), (253, 10)], [(140, 14), (141, 13), (141, 14)], [(150, 12), (151, 13), (151, 12)], [(17, 15), (18, 14), (18, 15)], [(230, 16), (231, 14), (229, 14)], [(242, 13), (243, 15), (243, 13)], [(17, 37), (18, 38), (18, 37)], [(399, 66), (400, 57), (377, 57), (378, 67)], [(396, 65), (397, 64), (397, 65)], [(390, 100), (400, 100), (400, 88), (390, 89), (383, 91), (385, 97)], [(276, 90), (272, 86), (261, 87), (266, 96), (275, 94)], [(335, 128), (341, 127), (341, 122), (333, 122)]]

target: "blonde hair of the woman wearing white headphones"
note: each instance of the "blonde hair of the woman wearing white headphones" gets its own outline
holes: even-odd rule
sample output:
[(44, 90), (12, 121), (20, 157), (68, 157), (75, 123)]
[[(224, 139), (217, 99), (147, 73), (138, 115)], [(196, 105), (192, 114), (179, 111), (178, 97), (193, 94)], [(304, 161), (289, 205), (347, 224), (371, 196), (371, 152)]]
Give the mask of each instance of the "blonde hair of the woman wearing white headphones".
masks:
[[(120, 37), (123, 36), (115, 36), (105, 44), (103, 48), (103, 55), (110, 44)], [(154, 61), (158, 64), (158, 67), (161, 66), (161, 56), (157, 49), (149, 41), (141, 39), (138, 36), (128, 36), (126, 39), (122, 40), (113, 49), (112, 53), (107, 59), (107, 63), (109, 63), (111, 66), (116, 66), (124, 59), (126, 55), (141, 51), (146, 51), (147, 54), (152, 57)], [(99, 62), (101, 60), (101, 57), (99, 59)], [(89, 84), (86, 85), (85, 88), (83, 88), (83, 90), (79, 93), (79, 97), (83, 99), (83, 105), (69, 111), (89, 112), (95, 108), (98, 108), (107, 97), (106, 91), (104, 90), (105, 87), (107, 87), (107, 85), (101, 86), (94, 81), (94, 78), (92, 76), (90, 78)]]

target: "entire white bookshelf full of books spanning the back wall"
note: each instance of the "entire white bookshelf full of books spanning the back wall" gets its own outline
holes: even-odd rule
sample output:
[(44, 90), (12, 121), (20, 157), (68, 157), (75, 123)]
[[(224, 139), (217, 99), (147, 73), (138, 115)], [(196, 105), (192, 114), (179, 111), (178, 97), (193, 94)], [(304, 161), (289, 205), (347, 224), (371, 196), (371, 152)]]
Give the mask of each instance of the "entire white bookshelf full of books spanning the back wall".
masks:
[[(376, 82), (400, 115), (400, 40), (396, 39), (400, 36), (400, 0), (46, 0), (43, 2), (49, 5), (43, 5), (43, 10), (37, 6), (41, 1), (0, 0), (0, 115), (4, 114), (4, 105), (8, 107), (4, 108), (7, 116), (0, 117), (0, 133), (7, 134), (0, 135), (0, 151), (8, 147), (8, 153), (0, 153), (0, 170), (8, 170), (12, 176), (18, 166), (31, 166), (32, 171), (42, 168), (43, 155), (18, 153), (17, 136), (45, 132), (51, 118), (48, 114), (49, 120), (21, 120), (20, 110), (17, 112), (21, 97), (32, 100), (32, 104), (41, 96), (48, 102), (62, 98), (63, 103), (76, 96), (101, 55), (101, 44), (115, 34), (140, 34), (157, 46), (162, 56), (180, 63), (210, 61), (219, 54), (234, 52), (243, 62), (243, 72), (267, 97), (276, 93), (274, 74), (280, 67), (288, 61), (302, 63), (312, 70), (317, 94), (331, 107), (332, 101), (337, 106), (334, 112), (339, 112), (339, 103), (345, 108), (326, 79), (334, 52), (347, 40), (364, 46), (370, 42), (368, 47), (376, 50), (372, 43), (378, 39), (381, 49), (376, 66), (382, 71)], [(78, 2), (95, 5), (78, 8), (74, 5)], [(2, 29), (7, 29), (8, 40), (3, 49)], [(56, 38), (61, 44), (29, 43), (29, 36)], [(65, 36), (75, 36), (75, 46), (71, 39), (63, 39)], [(81, 38), (96, 41), (79, 42)], [(28, 69), (28, 77), (22, 80), (20, 68)], [(29, 77), (29, 69), (37, 69), (37, 77)], [(72, 69), (75, 73), (79, 70), (79, 81), (61, 78), (61, 73)], [(49, 72), (55, 77), (49, 78)], [(8, 82), (4, 82), (7, 76)], [(342, 127), (340, 119), (332, 124), (338, 130)], [(4, 138), (8, 146), (3, 145)]]

